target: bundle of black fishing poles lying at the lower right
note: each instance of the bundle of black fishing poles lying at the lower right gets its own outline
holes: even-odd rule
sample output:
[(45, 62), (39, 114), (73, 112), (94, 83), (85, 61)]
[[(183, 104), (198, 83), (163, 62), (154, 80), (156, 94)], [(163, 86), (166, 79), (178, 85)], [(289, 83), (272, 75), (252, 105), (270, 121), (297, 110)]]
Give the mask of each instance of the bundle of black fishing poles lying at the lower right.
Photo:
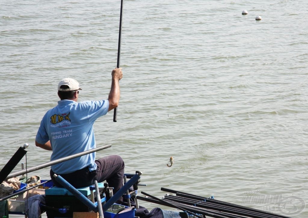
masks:
[(159, 199), (141, 191), (141, 194), (146, 195), (146, 197), (137, 196), (137, 199), (182, 210), (187, 212), (190, 217), (290, 218), (288, 216), (223, 202), (213, 199), (213, 197), (206, 198), (167, 188), (161, 188), (161, 191), (166, 191), (172, 194), (166, 194), (162, 199)]

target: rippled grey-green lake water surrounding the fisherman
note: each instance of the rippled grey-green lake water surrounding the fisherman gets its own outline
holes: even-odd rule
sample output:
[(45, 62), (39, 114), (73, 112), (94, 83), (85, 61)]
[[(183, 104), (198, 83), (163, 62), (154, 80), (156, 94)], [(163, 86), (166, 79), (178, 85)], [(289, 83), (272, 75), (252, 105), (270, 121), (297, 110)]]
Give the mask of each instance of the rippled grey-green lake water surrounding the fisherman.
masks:
[[(49, 161), (34, 140), (62, 78), (79, 81), (79, 101), (107, 98), (120, 1), (0, 5), (0, 168), (24, 143), (32, 167)], [(126, 173), (143, 173), (140, 191), (156, 197), (167, 187), (308, 217), (306, 8), (124, 0), (118, 121), (109, 112), (95, 122), (97, 146), (112, 145), (97, 157), (120, 154)], [(48, 179), (49, 168), (31, 175)]]

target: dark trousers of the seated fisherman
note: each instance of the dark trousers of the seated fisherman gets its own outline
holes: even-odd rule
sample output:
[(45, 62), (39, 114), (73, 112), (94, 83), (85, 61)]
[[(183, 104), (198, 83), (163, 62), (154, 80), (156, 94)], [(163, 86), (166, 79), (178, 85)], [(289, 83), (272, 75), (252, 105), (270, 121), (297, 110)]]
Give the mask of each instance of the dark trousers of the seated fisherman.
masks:
[[(103, 182), (106, 180), (109, 187), (114, 187), (113, 193), (117, 192), (123, 186), (124, 161), (119, 155), (110, 155), (95, 160), (97, 169), (89, 171), (88, 167), (77, 170), (72, 173), (60, 174), (63, 179), (75, 188), (86, 187), (94, 184), (94, 181)], [(50, 176), (55, 186), (63, 187), (53, 177), (57, 174), (50, 170)], [(58, 175), (58, 174), (57, 174)]]

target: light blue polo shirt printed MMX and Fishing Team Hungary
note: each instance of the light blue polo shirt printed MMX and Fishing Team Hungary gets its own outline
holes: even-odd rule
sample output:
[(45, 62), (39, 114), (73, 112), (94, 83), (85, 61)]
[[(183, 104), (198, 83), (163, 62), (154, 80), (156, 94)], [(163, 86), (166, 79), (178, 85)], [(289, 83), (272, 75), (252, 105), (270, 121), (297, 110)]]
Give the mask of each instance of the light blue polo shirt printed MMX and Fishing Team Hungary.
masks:
[[(56, 160), (96, 147), (94, 121), (108, 112), (109, 101), (58, 101), (58, 105), (44, 115), (35, 140), (44, 144), (50, 140)], [(95, 153), (86, 154), (51, 166), (57, 174), (71, 173), (89, 167), (96, 170)]]

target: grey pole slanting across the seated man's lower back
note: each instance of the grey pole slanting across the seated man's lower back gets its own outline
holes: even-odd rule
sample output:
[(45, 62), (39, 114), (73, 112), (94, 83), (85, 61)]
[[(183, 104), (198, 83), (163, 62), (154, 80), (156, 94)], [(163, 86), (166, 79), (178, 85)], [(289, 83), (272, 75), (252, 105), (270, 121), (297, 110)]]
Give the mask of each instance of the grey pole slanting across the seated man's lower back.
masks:
[(28, 169), (16, 171), (14, 173), (10, 173), (6, 177), (6, 179), (10, 179), (10, 178), (13, 178), (13, 177), (16, 177), (16, 176), (19, 176), (19, 175), (30, 173), (30, 172), (33, 172), (33, 171), (36, 171), (36, 170), (39, 170), (39, 169), (43, 169), (45, 167), (50, 167), (51, 165), (55, 165), (57, 163), (61, 163), (61, 162), (67, 161), (67, 160), (71, 160), (73, 158), (78, 158), (80, 156), (83, 156), (83, 155), (86, 155), (86, 154), (90, 154), (90, 153), (93, 153), (95, 151), (103, 150), (103, 149), (110, 148), (110, 147), (111, 147), (111, 145), (106, 145), (106, 146), (102, 146), (102, 147), (98, 147), (98, 148), (93, 148), (91, 150), (83, 151), (83, 152), (80, 152), (80, 153), (77, 153), (77, 154), (72, 154), (72, 155), (67, 156), (67, 157), (59, 158), (59, 159), (56, 159), (56, 160), (53, 160), (53, 161), (49, 161), (49, 162), (46, 162), (46, 163), (34, 166), (34, 167), (30, 167)]

